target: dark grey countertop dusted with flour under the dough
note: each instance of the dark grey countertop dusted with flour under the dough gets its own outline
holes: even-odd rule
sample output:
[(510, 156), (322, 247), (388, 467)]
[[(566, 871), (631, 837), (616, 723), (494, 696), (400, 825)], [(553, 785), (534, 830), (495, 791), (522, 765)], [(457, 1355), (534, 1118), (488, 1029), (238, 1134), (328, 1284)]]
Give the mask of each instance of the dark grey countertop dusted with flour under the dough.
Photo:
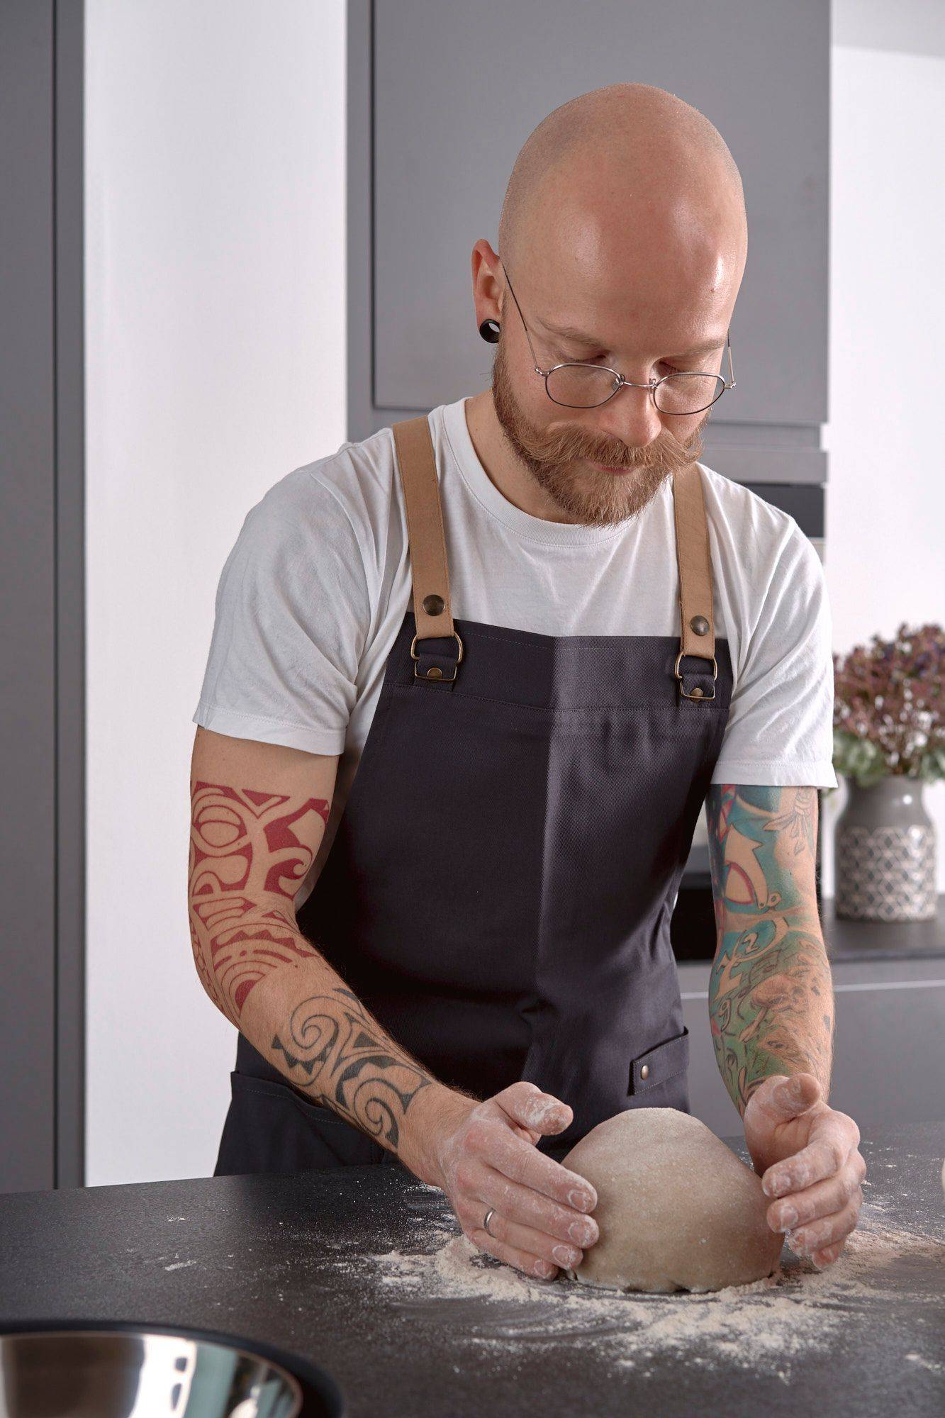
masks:
[[(867, 1204), (849, 1255), (819, 1275), (785, 1248), (783, 1276), (715, 1296), (528, 1282), (481, 1252), (463, 1259), (467, 1293), (444, 1295), (458, 1225), (400, 1166), (3, 1195), (0, 1327), (82, 1317), (237, 1334), (321, 1364), (350, 1415), (931, 1418), (945, 1409), (945, 1123), (861, 1147)], [(694, 1313), (700, 1333), (668, 1343)]]

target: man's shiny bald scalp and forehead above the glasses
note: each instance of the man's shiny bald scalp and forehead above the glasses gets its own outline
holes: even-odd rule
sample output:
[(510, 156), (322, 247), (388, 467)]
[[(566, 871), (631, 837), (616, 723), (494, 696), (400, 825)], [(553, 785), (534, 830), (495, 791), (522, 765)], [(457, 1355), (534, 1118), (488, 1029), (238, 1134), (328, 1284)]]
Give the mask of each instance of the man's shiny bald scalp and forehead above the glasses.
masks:
[(498, 238), (516, 295), (521, 284), (568, 303), (573, 291), (617, 319), (665, 320), (680, 301), (711, 316), (735, 303), (745, 268), (742, 182), (698, 109), (651, 84), (609, 84), (525, 140)]

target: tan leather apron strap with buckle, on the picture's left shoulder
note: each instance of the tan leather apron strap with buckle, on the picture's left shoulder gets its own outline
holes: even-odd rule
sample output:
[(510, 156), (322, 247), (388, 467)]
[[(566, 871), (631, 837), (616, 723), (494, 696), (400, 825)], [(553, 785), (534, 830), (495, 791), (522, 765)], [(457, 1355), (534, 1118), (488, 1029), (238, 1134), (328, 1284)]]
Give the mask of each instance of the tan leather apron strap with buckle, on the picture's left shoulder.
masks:
[[(450, 608), (443, 508), (430, 424), (426, 415), (406, 418), (393, 424), (393, 435), (407, 509), (413, 614), (417, 624), (410, 647), (413, 674), (414, 679), (424, 683), (453, 683), (463, 659), (463, 641), (454, 630)], [(446, 654), (443, 647), (430, 647), (429, 652), (419, 648), (424, 640), (448, 637), (455, 640), (455, 647), (448, 647)]]

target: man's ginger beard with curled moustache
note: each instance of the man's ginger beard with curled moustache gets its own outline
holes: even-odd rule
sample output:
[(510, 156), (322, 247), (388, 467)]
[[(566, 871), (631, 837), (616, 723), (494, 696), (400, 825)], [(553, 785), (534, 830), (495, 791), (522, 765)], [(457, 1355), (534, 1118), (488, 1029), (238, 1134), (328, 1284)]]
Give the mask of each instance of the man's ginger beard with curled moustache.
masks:
[[(702, 428), (711, 413), (707, 408), (685, 442), (664, 428), (646, 448), (623, 444), (604, 448), (582, 428), (542, 434), (528, 421), (512, 393), (502, 337), (492, 362), (492, 403), (516, 458), (569, 522), (586, 526), (607, 526), (637, 516), (668, 476), (698, 462)], [(631, 471), (604, 472), (603, 468), (587, 467), (582, 462), (585, 458)]]

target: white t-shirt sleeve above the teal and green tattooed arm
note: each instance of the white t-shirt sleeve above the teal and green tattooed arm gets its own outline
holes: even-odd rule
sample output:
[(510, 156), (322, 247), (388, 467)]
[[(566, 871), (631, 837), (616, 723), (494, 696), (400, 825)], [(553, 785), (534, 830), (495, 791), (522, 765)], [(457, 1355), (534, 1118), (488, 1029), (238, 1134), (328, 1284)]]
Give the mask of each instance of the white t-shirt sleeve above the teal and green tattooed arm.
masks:
[(748, 627), (712, 783), (837, 786), (831, 638), (823, 566), (793, 523)]

